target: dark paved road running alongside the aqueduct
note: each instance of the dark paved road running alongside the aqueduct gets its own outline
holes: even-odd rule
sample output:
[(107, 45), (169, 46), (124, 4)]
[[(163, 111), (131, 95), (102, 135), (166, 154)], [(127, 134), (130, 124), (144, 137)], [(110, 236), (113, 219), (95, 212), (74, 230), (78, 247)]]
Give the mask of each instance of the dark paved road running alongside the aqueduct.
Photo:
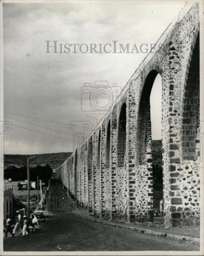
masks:
[[(51, 187), (50, 197), (62, 199), (58, 184)], [(59, 202), (58, 202), (59, 203)], [(58, 207), (60, 205), (58, 204)], [(55, 215), (42, 224), (41, 233), (29, 238), (4, 239), (5, 251), (129, 251), (129, 250), (199, 250), (198, 245), (151, 237), (132, 230), (89, 222), (73, 214), (72, 210), (53, 209)]]

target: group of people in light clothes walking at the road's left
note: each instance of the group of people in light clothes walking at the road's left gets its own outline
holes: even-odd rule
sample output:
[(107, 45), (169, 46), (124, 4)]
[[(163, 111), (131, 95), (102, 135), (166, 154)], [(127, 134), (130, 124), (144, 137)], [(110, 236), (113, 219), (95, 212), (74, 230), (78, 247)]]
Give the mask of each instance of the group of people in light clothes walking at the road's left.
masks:
[(30, 211), (29, 212), (29, 218), (24, 215), (23, 217), (20, 214), (20, 211), (16, 211), (16, 216), (15, 216), (15, 226), (12, 230), (12, 221), (9, 217), (9, 215), (6, 216), (6, 232), (5, 232), (5, 237), (8, 237), (8, 233), (11, 234), (12, 237), (15, 236), (15, 233), (17, 230), (20, 230), (22, 233), (22, 237), (28, 237), (29, 233), (32, 231), (34, 231), (34, 229), (36, 231), (40, 231), (40, 225), (38, 222), (37, 217), (35, 216), (35, 214)]

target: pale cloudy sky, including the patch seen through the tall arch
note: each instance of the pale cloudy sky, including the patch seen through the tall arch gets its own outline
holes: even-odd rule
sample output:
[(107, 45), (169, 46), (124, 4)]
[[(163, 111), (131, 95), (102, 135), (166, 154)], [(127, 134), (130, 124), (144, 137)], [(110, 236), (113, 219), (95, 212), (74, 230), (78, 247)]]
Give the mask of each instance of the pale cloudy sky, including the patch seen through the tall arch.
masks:
[[(46, 41), (154, 44), (184, 5), (182, 0), (3, 4), (4, 120), (10, 124), (5, 154), (71, 152), (73, 133), (81, 133), (85, 121), (94, 129), (103, 117), (90, 103), (95, 81), (105, 81), (103, 92), (116, 97), (116, 87), (122, 90), (147, 54), (54, 53), (52, 48), (47, 53)], [(88, 93), (84, 83), (91, 83)], [(108, 99), (104, 93), (96, 106)], [(150, 99), (153, 139), (161, 139), (160, 99), (157, 77)], [(74, 131), (67, 129), (68, 122)]]

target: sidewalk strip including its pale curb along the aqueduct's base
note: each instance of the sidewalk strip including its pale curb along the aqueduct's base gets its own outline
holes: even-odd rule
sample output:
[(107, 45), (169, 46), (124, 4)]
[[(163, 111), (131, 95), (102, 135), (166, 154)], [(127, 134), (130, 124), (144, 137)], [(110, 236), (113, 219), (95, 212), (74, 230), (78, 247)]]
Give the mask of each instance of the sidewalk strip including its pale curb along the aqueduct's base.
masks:
[(190, 242), (200, 242), (200, 230), (199, 227), (175, 227), (175, 228), (164, 228), (162, 224), (153, 224), (153, 223), (126, 223), (119, 221), (104, 220), (100, 218), (95, 218), (87, 209), (75, 209), (73, 214), (82, 217), (89, 221), (95, 221), (103, 223), (110, 226), (115, 226), (119, 228), (126, 228), (135, 230), (137, 232), (153, 234), (159, 237), (167, 237), (175, 240), (187, 240)]

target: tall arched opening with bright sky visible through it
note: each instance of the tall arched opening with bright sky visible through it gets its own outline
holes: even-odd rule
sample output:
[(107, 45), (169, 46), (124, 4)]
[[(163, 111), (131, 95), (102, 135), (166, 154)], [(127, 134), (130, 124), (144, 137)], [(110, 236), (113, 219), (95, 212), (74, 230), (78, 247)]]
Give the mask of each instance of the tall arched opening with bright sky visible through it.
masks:
[(148, 177), (146, 190), (148, 200), (152, 202), (151, 214), (154, 215), (155, 222), (158, 221), (158, 217), (162, 222), (162, 77), (156, 70), (147, 75), (141, 94), (137, 140), (138, 165), (142, 172), (146, 169)]

